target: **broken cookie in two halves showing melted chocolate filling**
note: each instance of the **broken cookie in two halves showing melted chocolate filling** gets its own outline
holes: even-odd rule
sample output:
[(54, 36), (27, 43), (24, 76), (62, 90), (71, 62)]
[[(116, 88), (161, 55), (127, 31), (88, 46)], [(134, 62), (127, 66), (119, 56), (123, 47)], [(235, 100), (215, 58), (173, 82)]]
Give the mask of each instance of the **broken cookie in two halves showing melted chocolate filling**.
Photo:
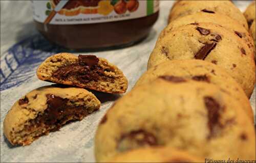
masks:
[(40, 80), (57, 85), (35, 89), (14, 103), (4, 121), (4, 134), (12, 145), (29, 145), (67, 122), (82, 120), (99, 110), (100, 101), (86, 89), (105, 93), (124, 93), (127, 89), (120, 69), (92, 55), (53, 55), (36, 74)]

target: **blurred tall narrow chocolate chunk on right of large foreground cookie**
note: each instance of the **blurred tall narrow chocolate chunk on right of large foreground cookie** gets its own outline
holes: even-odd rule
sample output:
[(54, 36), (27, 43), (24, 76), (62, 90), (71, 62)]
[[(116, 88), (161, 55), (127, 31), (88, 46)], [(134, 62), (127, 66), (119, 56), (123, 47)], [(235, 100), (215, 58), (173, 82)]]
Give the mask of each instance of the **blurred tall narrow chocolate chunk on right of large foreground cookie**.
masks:
[(208, 127), (210, 130), (209, 138), (213, 137), (215, 133), (215, 127), (219, 123), (220, 119), (220, 104), (212, 97), (204, 97), (204, 104), (208, 112)]

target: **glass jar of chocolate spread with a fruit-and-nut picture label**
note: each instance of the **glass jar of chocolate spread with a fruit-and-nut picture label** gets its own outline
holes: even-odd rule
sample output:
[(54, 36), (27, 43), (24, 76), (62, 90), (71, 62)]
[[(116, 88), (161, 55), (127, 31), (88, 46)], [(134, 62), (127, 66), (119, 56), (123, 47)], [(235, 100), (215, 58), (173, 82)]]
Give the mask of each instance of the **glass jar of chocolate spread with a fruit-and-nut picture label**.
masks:
[(69, 49), (105, 49), (144, 39), (156, 22), (159, 1), (32, 1), (36, 28)]

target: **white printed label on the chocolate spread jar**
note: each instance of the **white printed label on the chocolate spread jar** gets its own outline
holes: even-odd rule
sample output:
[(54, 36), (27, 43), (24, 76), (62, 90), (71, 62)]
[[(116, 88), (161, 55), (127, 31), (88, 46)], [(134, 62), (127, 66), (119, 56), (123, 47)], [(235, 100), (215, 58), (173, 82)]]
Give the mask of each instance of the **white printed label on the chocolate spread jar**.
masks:
[(31, 1), (33, 18), (49, 24), (86, 24), (135, 19), (156, 13), (155, 0)]

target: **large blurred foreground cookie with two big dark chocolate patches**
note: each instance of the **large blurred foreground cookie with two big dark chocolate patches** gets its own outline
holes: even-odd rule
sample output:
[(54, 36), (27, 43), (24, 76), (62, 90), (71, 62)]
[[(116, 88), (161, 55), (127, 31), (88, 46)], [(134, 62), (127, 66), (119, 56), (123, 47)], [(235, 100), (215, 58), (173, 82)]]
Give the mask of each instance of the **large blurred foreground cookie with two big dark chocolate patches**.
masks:
[(96, 160), (156, 146), (202, 158), (255, 159), (254, 126), (242, 108), (214, 84), (160, 76), (106, 112), (96, 131)]

